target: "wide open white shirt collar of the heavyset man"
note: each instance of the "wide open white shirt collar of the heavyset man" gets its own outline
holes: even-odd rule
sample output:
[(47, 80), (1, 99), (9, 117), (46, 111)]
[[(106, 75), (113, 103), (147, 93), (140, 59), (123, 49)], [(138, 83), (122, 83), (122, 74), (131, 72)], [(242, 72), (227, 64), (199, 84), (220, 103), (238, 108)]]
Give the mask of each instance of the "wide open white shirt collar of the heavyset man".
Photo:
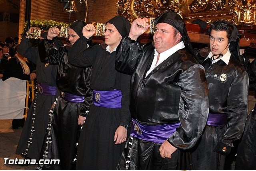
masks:
[(155, 49), (155, 53), (154, 53), (154, 59), (152, 61), (151, 67), (148, 70), (148, 72), (146, 73), (146, 77), (148, 76), (149, 73), (151, 73), (158, 65), (160, 65), (162, 62), (164, 62), (168, 57), (170, 57), (172, 54), (174, 54), (176, 51), (183, 49), (185, 47), (183, 41), (181, 41), (180, 43), (178, 43), (177, 45), (175, 45), (174, 47), (171, 47), (170, 49), (160, 53), (159, 55), (159, 60), (156, 64), (157, 61), (157, 55), (158, 52)]

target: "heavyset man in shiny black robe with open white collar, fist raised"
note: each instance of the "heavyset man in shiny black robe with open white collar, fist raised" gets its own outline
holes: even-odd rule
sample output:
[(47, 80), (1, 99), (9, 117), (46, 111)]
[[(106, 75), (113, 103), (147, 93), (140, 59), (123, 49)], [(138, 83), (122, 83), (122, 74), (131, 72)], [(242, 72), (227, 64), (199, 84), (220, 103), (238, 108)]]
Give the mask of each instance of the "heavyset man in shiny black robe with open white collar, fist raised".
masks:
[(131, 135), (117, 168), (192, 169), (190, 153), (183, 150), (196, 144), (206, 124), (204, 68), (178, 14), (167, 11), (156, 18), (154, 41), (140, 47), (137, 39), (148, 22), (134, 20), (116, 53), (116, 69), (132, 74)]

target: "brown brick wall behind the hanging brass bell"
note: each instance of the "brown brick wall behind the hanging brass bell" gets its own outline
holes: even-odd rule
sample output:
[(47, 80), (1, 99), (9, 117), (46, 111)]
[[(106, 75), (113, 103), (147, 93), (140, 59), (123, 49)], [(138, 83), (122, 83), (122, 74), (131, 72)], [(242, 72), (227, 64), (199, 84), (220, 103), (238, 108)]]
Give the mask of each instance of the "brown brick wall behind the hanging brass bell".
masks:
[[(71, 23), (75, 20), (84, 20), (86, 6), (84, 0), (80, 4), (75, 0), (77, 13), (71, 14)], [(116, 16), (116, 0), (88, 0), (87, 23), (105, 23), (110, 18)], [(26, 0), (20, 0), (20, 24), (19, 34), (24, 29)], [(56, 20), (68, 23), (69, 13), (63, 11), (59, 0), (32, 0), (30, 20)]]

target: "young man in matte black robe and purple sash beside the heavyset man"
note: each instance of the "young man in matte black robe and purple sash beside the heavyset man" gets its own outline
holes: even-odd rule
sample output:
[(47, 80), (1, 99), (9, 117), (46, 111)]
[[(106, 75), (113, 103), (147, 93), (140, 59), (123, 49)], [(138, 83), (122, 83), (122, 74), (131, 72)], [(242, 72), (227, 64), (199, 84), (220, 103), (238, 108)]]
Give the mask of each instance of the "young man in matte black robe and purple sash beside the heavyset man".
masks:
[[(123, 16), (106, 22), (105, 41), (91, 49), (72, 53), (69, 59), (80, 67), (92, 66), (93, 104), (78, 142), (76, 169), (114, 170), (130, 132), (130, 75), (115, 70), (116, 47), (128, 35), (130, 23)], [(74, 46), (81, 49), (95, 33), (87, 24)]]

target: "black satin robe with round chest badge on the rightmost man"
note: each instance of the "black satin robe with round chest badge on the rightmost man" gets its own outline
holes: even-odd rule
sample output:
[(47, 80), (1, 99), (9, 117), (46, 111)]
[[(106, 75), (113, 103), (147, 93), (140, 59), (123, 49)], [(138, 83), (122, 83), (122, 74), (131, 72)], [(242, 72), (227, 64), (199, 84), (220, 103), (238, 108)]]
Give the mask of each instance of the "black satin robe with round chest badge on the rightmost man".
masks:
[(220, 60), (202, 61), (206, 70), (210, 113), (226, 114), (224, 128), (206, 126), (202, 138), (192, 152), (194, 169), (216, 170), (224, 168), (225, 156), (214, 152), (219, 142), (233, 147), (244, 130), (248, 108), (248, 74), (232, 55), (228, 65)]

